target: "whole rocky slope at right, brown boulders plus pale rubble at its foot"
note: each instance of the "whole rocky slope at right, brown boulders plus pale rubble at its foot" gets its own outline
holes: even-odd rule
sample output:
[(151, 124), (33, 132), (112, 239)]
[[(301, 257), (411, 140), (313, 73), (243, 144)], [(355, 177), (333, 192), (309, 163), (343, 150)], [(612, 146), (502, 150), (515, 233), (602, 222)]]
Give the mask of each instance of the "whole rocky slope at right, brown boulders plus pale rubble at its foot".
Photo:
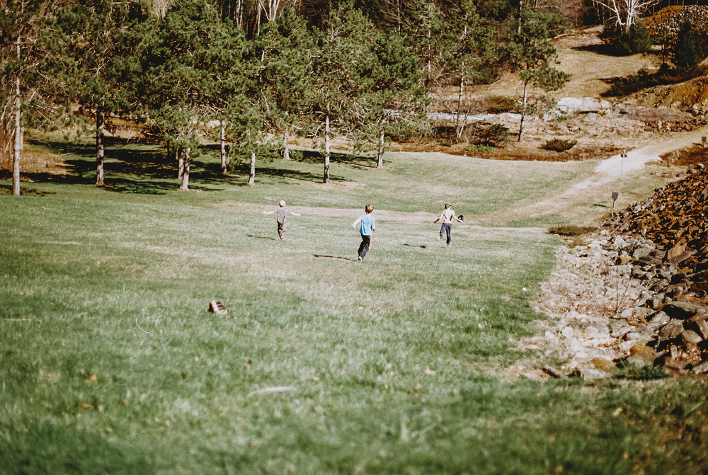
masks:
[(707, 216), (708, 170), (699, 164), (561, 253), (537, 302), (559, 323), (526, 343), (555, 348), (569, 362), (543, 371), (586, 379), (618, 368), (708, 374)]

